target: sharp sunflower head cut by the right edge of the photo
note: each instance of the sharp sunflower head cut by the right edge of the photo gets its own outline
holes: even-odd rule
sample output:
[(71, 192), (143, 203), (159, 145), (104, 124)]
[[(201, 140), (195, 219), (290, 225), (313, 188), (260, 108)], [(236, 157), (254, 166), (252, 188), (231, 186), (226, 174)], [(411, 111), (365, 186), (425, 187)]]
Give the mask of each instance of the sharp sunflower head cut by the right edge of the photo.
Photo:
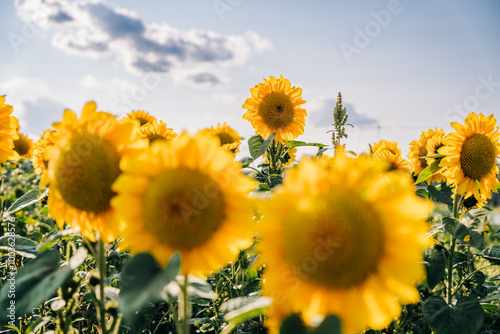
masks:
[(485, 117), (470, 113), (465, 125), (451, 123), (456, 130), (446, 136), (445, 146), (438, 149), (444, 154), (439, 166), (448, 167), (444, 173), (447, 182), (456, 186), (457, 194), (474, 197), (478, 201), (491, 198), (497, 192), (496, 159), (500, 156), (498, 126), (493, 115)]

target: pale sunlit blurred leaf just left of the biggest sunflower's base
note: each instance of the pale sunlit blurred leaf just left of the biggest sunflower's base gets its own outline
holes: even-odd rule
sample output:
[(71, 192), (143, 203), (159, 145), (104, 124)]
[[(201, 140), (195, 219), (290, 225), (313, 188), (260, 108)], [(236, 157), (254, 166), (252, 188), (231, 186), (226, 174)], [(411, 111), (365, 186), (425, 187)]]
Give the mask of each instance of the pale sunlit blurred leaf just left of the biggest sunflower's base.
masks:
[(273, 303), (269, 297), (239, 297), (229, 299), (221, 305), (225, 313), (224, 320), (232, 323), (242, 323), (245, 320), (264, 314), (264, 310)]

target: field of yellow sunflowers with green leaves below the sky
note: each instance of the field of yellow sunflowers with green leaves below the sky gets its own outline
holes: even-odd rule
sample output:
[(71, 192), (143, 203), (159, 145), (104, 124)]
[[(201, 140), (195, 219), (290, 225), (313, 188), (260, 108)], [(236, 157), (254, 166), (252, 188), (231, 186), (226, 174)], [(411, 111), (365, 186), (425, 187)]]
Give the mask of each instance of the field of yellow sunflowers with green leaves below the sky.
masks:
[(94, 102), (35, 143), (0, 96), (0, 333), (500, 333), (493, 115), (356, 154), (340, 93), (331, 143), (283, 76), (250, 95), (241, 159)]

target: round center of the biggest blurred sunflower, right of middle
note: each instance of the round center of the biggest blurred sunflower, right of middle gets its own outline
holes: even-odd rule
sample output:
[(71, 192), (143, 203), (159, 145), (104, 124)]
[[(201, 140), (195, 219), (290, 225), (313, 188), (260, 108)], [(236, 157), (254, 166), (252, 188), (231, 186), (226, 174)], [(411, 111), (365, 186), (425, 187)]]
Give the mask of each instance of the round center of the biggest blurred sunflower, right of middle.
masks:
[(294, 213), (284, 232), (285, 258), (295, 274), (330, 289), (359, 285), (377, 270), (383, 226), (372, 205), (353, 192), (316, 198)]

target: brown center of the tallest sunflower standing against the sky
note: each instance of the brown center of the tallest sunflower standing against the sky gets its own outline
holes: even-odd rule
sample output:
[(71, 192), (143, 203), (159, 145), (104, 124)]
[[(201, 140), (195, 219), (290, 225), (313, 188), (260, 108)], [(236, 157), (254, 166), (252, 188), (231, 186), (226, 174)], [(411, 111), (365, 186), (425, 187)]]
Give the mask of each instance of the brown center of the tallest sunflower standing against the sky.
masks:
[(286, 94), (272, 92), (262, 99), (259, 115), (267, 126), (276, 130), (283, 129), (293, 121), (293, 103)]

